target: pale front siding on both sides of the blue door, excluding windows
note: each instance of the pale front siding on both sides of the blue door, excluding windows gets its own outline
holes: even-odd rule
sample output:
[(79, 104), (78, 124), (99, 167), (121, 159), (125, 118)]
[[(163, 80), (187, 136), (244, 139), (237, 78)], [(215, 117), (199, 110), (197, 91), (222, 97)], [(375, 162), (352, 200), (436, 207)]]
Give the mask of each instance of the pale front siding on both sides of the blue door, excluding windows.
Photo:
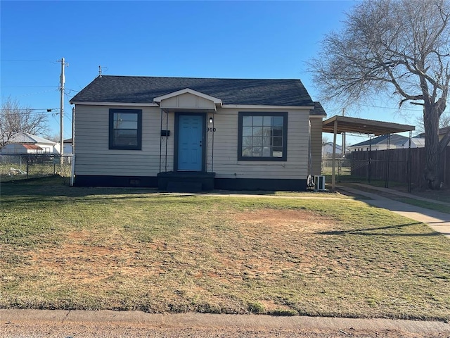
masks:
[[(142, 109), (142, 150), (110, 150), (109, 109)], [(288, 111), (288, 161), (238, 161), (238, 112), (255, 109), (221, 108), (214, 116), (214, 163), (212, 132), (207, 132), (207, 171), (217, 178), (290, 178), (306, 179), (308, 165), (309, 111)], [(170, 137), (167, 139), (167, 170), (173, 170), (174, 113), (163, 113)], [(160, 172), (160, 108), (77, 105), (75, 112), (75, 152), (77, 175), (156, 176)], [(212, 127), (207, 123), (207, 127)], [(165, 138), (162, 142), (162, 171), (165, 171)], [(212, 168), (212, 165), (214, 167)]]

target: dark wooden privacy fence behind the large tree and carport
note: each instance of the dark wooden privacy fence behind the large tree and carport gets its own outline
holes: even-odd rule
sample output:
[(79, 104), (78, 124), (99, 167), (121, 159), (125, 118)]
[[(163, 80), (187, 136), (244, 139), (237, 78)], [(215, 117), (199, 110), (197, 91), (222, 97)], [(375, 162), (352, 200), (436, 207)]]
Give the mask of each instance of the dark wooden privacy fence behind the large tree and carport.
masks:
[[(411, 151), (411, 153), (410, 153)], [(443, 183), (450, 186), (450, 146), (446, 147), (442, 161)], [(411, 165), (409, 161), (411, 159)], [(390, 149), (376, 151), (353, 151), (347, 156), (350, 161), (351, 175), (371, 180), (408, 184), (411, 188), (423, 187), (426, 184), (425, 149)]]

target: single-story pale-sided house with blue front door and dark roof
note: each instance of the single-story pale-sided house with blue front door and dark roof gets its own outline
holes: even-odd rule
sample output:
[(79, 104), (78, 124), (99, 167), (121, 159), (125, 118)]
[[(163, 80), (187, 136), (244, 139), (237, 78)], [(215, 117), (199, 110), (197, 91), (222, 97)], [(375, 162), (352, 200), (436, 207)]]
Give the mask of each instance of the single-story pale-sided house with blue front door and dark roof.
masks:
[(300, 80), (103, 75), (75, 95), (75, 185), (303, 190), (322, 118)]

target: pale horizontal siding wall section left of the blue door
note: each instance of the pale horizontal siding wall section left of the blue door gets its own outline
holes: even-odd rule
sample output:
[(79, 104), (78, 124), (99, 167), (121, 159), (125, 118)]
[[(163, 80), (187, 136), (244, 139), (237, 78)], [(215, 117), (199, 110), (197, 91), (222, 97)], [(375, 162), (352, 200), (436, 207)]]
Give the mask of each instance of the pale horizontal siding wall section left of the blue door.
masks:
[[(155, 176), (160, 171), (160, 109), (142, 109), (142, 150), (109, 149), (109, 109), (115, 106), (80, 106), (75, 111), (75, 152), (77, 175)], [(173, 114), (169, 114), (173, 126)], [(164, 127), (165, 129), (165, 123)], [(168, 139), (173, 154), (173, 127)], [(164, 150), (165, 152), (165, 147)], [(169, 168), (173, 168), (173, 164)]]

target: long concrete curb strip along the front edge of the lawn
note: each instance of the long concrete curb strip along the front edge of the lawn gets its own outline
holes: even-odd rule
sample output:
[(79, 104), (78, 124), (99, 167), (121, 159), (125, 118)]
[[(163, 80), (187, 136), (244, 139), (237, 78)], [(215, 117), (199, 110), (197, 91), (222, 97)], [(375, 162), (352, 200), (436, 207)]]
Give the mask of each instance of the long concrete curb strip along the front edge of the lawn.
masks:
[(11, 323), (95, 323), (139, 325), (155, 328), (239, 329), (263, 328), (283, 330), (397, 330), (413, 334), (449, 333), (450, 324), (435, 321), (390, 320), (383, 318), (328, 318), (271, 315), (221, 315), (207, 313), (152, 314), (142, 311), (63, 311), (0, 309), (0, 326)]

